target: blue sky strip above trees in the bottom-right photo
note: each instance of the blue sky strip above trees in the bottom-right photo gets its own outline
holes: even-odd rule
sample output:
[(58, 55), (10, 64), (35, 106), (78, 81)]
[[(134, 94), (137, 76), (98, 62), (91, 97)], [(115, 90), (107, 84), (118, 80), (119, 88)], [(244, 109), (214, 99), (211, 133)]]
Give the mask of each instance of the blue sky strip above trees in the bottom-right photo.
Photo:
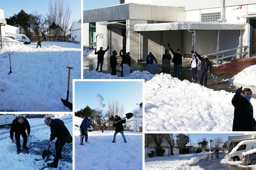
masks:
[[(177, 134), (176, 133), (173, 134), (173, 139), (175, 139), (175, 142), (176, 142)], [(215, 137), (221, 137), (223, 139), (223, 142), (225, 142), (228, 139), (228, 136), (243, 135), (244, 133), (183, 133), (183, 134), (185, 135), (189, 134), (189, 137), (193, 144), (204, 137), (207, 139), (207, 142), (209, 142), (210, 139), (214, 140)]]

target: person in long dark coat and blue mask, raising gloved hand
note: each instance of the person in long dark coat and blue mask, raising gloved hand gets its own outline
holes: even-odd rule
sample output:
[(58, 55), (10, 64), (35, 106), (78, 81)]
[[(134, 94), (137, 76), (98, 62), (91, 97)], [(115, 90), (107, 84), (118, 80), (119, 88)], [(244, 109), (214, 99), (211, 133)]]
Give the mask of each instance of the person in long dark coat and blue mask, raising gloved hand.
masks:
[(250, 88), (242, 87), (236, 90), (232, 99), (235, 107), (233, 119), (233, 131), (255, 131), (255, 119), (253, 118), (253, 106), (250, 103), (253, 92)]

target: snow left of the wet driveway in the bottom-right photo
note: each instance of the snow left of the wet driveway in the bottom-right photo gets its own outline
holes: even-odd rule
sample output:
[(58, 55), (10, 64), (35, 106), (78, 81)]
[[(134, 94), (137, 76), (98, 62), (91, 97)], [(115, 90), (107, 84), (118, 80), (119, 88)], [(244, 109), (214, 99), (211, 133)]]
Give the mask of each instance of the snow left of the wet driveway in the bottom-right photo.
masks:
[(145, 170), (203, 170), (199, 166), (190, 166), (207, 158), (212, 152), (172, 155), (145, 159)]

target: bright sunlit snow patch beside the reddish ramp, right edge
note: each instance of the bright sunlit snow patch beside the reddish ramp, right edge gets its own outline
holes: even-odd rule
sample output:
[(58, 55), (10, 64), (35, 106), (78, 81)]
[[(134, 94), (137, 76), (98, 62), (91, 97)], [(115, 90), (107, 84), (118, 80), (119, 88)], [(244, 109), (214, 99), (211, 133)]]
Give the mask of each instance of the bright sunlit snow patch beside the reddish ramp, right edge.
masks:
[(236, 74), (234, 77), (226, 79), (225, 81), (241, 85), (256, 86), (256, 65), (244, 68), (244, 70)]

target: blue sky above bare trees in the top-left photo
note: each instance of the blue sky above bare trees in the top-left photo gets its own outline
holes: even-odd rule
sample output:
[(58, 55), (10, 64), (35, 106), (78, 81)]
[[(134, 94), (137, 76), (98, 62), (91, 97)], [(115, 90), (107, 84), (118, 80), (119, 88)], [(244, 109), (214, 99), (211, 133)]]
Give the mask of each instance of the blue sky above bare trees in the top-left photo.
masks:
[[(30, 14), (37, 11), (38, 14), (46, 16), (48, 13), (48, 4), (50, 0), (4, 0), (0, 8), (4, 10), (6, 17), (11, 17), (23, 9)], [(51, 0), (54, 2), (54, 0)], [(81, 19), (81, 0), (64, 0), (65, 4), (70, 4), (71, 8), (71, 23)]]

